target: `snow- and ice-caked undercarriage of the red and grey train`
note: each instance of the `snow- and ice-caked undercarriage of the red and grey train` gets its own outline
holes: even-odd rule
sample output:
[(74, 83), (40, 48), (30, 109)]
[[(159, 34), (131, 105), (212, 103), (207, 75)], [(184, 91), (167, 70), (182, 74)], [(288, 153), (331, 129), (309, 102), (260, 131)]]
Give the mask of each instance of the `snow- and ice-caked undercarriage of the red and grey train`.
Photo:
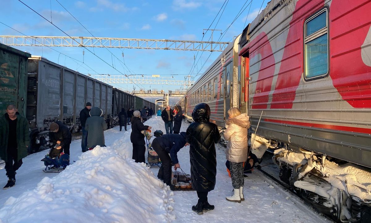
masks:
[(370, 169), (287, 146), (275, 149), (273, 161), (280, 179), (321, 213), (338, 222), (371, 222)]

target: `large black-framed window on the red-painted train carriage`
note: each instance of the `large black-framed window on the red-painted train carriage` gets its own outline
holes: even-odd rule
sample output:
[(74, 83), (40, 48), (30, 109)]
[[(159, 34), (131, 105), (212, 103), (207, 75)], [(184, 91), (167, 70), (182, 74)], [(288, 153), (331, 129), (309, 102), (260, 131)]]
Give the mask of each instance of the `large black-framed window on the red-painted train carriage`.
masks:
[(304, 78), (312, 80), (328, 74), (328, 10), (314, 14), (304, 23)]

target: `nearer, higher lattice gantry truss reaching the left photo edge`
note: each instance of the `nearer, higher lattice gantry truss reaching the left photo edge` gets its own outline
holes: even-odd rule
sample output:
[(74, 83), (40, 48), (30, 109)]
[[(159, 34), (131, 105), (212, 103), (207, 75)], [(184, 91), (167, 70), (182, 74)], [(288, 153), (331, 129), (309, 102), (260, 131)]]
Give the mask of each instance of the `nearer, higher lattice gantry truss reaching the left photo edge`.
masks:
[(66, 36), (0, 36), (8, 46), (74, 46), (131, 49), (173, 49), (222, 52), (229, 42), (183, 41), (168, 39), (126, 39)]

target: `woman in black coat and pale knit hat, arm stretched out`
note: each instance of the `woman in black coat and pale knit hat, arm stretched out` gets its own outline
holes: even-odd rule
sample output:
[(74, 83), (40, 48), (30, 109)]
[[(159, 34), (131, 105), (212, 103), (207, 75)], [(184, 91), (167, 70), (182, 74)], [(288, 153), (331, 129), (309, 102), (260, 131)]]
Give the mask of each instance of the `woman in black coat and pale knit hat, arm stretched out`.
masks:
[(145, 140), (144, 135), (141, 133), (142, 130), (151, 129), (151, 126), (145, 126), (140, 119), (140, 111), (133, 112), (133, 119), (131, 121), (131, 135), (130, 141), (133, 143), (133, 156), (132, 159), (135, 162), (145, 162)]

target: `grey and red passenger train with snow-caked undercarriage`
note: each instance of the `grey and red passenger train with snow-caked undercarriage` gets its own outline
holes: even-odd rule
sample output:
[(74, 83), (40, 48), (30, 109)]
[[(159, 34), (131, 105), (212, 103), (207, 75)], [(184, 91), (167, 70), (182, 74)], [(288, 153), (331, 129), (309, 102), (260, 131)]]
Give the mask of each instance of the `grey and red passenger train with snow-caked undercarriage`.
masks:
[[(237, 107), (250, 145), (339, 222), (371, 222), (371, 1), (272, 0), (178, 101), (221, 128)], [(259, 125), (258, 125), (259, 124)]]

